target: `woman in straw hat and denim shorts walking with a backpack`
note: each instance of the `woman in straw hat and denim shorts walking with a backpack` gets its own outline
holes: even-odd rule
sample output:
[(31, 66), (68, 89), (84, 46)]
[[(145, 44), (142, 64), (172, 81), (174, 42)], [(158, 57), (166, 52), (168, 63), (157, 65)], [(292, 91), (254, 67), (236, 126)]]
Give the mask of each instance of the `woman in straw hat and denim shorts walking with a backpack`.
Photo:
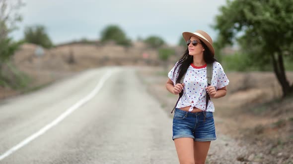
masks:
[[(226, 95), (227, 79), (220, 63), (214, 58), (211, 37), (202, 30), (184, 32), (188, 48), (168, 73), (166, 88), (172, 94), (183, 92), (175, 108), (173, 140), (180, 164), (205, 164), (211, 141), (216, 140), (210, 100), (206, 108), (207, 93), (211, 98)], [(213, 64), (211, 85), (207, 82), (207, 63)], [(184, 75), (185, 74), (185, 75)], [(184, 78), (183, 83), (180, 79)]]

